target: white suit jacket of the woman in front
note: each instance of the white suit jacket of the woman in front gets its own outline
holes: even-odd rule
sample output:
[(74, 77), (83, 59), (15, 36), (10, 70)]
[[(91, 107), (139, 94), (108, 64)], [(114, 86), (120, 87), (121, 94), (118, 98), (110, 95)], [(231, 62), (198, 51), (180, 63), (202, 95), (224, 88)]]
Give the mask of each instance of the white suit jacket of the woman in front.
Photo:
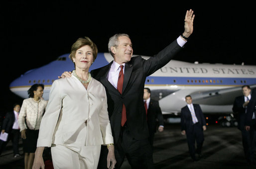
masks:
[(93, 79), (87, 90), (72, 75), (52, 84), (37, 147), (75, 147), (114, 143), (105, 87)]

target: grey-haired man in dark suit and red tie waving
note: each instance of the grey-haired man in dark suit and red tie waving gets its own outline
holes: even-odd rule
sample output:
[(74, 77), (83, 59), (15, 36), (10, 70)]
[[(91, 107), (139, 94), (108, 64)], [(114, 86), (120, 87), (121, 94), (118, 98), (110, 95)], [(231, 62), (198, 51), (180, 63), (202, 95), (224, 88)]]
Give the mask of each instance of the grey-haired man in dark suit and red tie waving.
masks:
[[(109, 40), (109, 52), (114, 61), (91, 71), (92, 77), (106, 88), (108, 112), (115, 144), (116, 169), (125, 157), (132, 169), (153, 169), (153, 157), (148, 141), (148, 127), (143, 103), (143, 88), (147, 76), (166, 65), (183, 47), (193, 32), (195, 15), (186, 12), (184, 32), (154, 57), (131, 57), (132, 43), (127, 34), (116, 34)], [(70, 77), (68, 72), (62, 78)], [(108, 149), (102, 146), (98, 168), (106, 169)], [(109, 160), (108, 160), (109, 161)]]

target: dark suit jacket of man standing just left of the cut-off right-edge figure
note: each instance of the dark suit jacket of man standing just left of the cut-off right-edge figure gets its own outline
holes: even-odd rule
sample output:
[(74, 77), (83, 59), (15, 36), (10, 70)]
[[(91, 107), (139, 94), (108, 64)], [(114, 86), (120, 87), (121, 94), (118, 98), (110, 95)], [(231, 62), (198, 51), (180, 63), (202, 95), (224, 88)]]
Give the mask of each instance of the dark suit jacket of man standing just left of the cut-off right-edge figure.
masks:
[(245, 103), (245, 96), (238, 96), (235, 98), (233, 104), (233, 112), (238, 113), (238, 129), (243, 130), (245, 128), (245, 120), (246, 120), (246, 109), (243, 107)]

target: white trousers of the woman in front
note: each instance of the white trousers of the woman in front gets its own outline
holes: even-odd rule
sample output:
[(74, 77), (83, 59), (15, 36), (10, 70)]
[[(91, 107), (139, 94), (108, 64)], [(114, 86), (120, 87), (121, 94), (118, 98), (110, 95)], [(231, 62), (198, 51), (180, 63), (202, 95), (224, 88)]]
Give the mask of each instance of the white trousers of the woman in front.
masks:
[(85, 146), (80, 153), (65, 145), (51, 147), (54, 169), (97, 169), (100, 153), (101, 145)]

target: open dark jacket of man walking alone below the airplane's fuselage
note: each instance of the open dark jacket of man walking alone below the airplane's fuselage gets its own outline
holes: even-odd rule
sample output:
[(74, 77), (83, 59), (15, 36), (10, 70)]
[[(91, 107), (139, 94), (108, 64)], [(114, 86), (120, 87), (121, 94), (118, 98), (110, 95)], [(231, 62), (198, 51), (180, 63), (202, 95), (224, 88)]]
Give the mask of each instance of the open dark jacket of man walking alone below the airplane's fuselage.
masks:
[[(199, 124), (201, 124), (202, 126), (206, 126), (205, 118), (204, 118), (204, 115), (203, 115), (200, 105), (193, 104), (193, 106), (194, 106), (196, 118), (197, 118)], [(181, 130), (185, 130), (186, 132), (191, 131), (193, 121), (192, 121), (191, 112), (187, 105), (185, 107), (181, 108), (181, 122), (180, 123), (181, 123)]]

